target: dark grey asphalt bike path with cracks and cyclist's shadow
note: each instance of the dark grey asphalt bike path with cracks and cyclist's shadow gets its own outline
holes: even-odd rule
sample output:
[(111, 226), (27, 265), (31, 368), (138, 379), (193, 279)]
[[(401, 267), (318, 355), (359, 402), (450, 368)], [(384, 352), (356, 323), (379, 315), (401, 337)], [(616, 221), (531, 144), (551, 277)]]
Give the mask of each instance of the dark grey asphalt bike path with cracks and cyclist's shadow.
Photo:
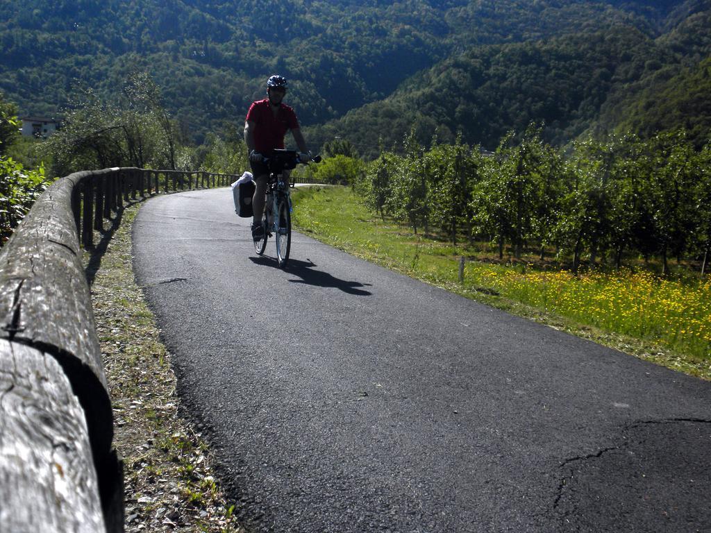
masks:
[(711, 383), (149, 200), (134, 266), (254, 532), (711, 531)]

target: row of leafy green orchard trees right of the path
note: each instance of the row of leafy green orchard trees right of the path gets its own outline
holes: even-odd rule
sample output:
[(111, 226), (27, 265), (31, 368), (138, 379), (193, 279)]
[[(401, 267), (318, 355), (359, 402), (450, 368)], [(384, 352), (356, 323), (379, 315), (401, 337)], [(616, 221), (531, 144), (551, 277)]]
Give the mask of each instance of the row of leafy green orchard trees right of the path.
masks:
[(622, 264), (624, 254), (704, 257), (711, 242), (711, 144), (697, 151), (683, 132), (651, 139), (609, 136), (569, 151), (542, 141), (540, 126), (505, 136), (493, 154), (461, 142), (425, 151), (412, 134), (400, 155), (384, 152), (354, 185), (373, 210), (417, 231), (431, 224), (490, 241), (503, 258), (524, 247)]

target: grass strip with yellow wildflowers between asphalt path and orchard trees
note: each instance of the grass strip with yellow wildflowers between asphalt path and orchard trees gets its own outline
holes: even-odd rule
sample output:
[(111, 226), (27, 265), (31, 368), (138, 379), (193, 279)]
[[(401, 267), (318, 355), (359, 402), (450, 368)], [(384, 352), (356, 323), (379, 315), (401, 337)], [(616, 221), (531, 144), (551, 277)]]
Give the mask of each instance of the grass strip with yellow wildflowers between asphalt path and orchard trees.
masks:
[[(462, 296), (645, 360), (711, 379), (711, 283), (649, 271), (573, 276), (551, 264), (498, 264), (486, 244), (453, 247), (366, 210), (349, 188), (294, 193), (294, 225), (327, 244)], [(460, 257), (468, 257), (464, 283)]]

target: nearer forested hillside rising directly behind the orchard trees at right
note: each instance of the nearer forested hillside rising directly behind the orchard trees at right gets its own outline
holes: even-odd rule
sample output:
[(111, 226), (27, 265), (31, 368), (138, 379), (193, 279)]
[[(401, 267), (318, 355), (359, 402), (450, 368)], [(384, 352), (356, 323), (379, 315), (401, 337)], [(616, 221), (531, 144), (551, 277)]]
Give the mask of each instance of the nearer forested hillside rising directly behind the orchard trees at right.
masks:
[(309, 133), (319, 141), (346, 137), (370, 156), (412, 128), (423, 144), (435, 132), (447, 142), (461, 133), (493, 149), (532, 121), (545, 125), (553, 144), (586, 132), (649, 136), (681, 127), (701, 146), (711, 131), (711, 11), (697, 7), (706, 10), (678, 11), (659, 36), (609, 21), (539, 41), (474, 46)]

